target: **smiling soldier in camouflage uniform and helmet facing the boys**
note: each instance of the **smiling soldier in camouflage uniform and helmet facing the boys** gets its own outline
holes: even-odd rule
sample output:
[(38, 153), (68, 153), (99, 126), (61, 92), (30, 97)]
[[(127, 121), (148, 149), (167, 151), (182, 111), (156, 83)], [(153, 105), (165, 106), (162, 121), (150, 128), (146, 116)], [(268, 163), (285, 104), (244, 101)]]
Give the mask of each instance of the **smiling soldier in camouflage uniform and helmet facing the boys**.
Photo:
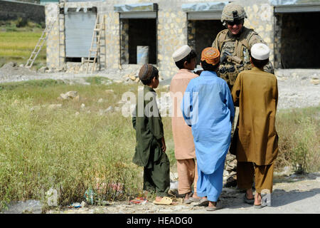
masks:
[[(230, 3), (225, 6), (221, 16), (221, 22), (226, 29), (220, 31), (215, 41), (213, 41), (213, 48), (217, 48), (220, 53), (220, 66), (218, 69), (218, 76), (223, 78), (232, 91), (233, 83), (237, 78), (238, 73), (252, 68), (250, 63), (250, 50), (255, 43), (265, 43), (262, 38), (251, 28), (243, 26), (247, 18), (245, 9), (239, 4)], [(264, 71), (274, 73), (272, 63), (267, 63), (263, 68)], [(235, 123), (238, 110), (235, 113)], [(235, 156), (228, 153), (226, 157), (226, 172), (228, 172), (228, 179), (225, 187), (235, 187), (237, 161)]]

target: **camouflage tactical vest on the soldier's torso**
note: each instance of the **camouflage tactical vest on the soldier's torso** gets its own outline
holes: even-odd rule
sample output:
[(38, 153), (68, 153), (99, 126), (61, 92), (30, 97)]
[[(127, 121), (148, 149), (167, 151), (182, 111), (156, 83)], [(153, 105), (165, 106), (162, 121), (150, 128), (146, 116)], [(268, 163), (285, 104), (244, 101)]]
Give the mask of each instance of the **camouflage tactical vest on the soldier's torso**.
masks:
[[(218, 33), (213, 43), (213, 46), (219, 49), (222, 61), (220, 61), (218, 76), (228, 83), (230, 89), (233, 87), (238, 73), (252, 68), (249, 41), (255, 34), (257, 33), (253, 29), (244, 27), (239, 38), (230, 38), (228, 29), (224, 29)], [(227, 56), (226, 52), (230, 53), (230, 56), (225, 57)]]

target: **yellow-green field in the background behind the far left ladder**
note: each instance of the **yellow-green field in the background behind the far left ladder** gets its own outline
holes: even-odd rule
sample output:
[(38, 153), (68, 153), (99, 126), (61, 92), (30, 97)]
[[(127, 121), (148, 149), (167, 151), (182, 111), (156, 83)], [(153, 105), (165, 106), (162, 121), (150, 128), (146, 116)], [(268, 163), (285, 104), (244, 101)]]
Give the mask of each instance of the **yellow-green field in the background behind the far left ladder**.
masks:
[[(23, 27), (17, 27), (17, 21), (1, 21), (0, 24), (0, 67), (10, 61), (26, 64), (41, 37), (43, 28), (30, 21), (23, 24)], [(41, 48), (34, 64), (39, 66), (45, 63), (46, 43)]]

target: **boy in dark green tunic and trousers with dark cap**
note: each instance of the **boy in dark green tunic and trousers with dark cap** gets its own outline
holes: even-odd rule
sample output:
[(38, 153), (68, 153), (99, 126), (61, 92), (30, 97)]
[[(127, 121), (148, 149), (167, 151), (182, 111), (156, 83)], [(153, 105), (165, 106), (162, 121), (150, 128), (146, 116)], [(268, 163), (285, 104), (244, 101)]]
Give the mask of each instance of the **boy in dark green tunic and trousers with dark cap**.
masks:
[(166, 195), (170, 188), (170, 163), (165, 153), (164, 128), (154, 91), (159, 86), (159, 71), (151, 64), (144, 64), (139, 79), (144, 84), (144, 91), (138, 93), (132, 118), (137, 139), (132, 162), (144, 167), (144, 190), (156, 192), (154, 203), (169, 204), (172, 200)]

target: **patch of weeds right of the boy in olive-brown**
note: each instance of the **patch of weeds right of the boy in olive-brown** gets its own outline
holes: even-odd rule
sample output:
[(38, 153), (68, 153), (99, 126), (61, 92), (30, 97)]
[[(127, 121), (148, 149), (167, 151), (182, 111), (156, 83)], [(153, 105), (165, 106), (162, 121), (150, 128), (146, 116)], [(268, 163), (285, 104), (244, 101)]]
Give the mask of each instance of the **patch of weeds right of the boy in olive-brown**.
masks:
[(279, 155), (276, 167), (295, 172), (320, 170), (320, 107), (281, 110), (277, 114)]

